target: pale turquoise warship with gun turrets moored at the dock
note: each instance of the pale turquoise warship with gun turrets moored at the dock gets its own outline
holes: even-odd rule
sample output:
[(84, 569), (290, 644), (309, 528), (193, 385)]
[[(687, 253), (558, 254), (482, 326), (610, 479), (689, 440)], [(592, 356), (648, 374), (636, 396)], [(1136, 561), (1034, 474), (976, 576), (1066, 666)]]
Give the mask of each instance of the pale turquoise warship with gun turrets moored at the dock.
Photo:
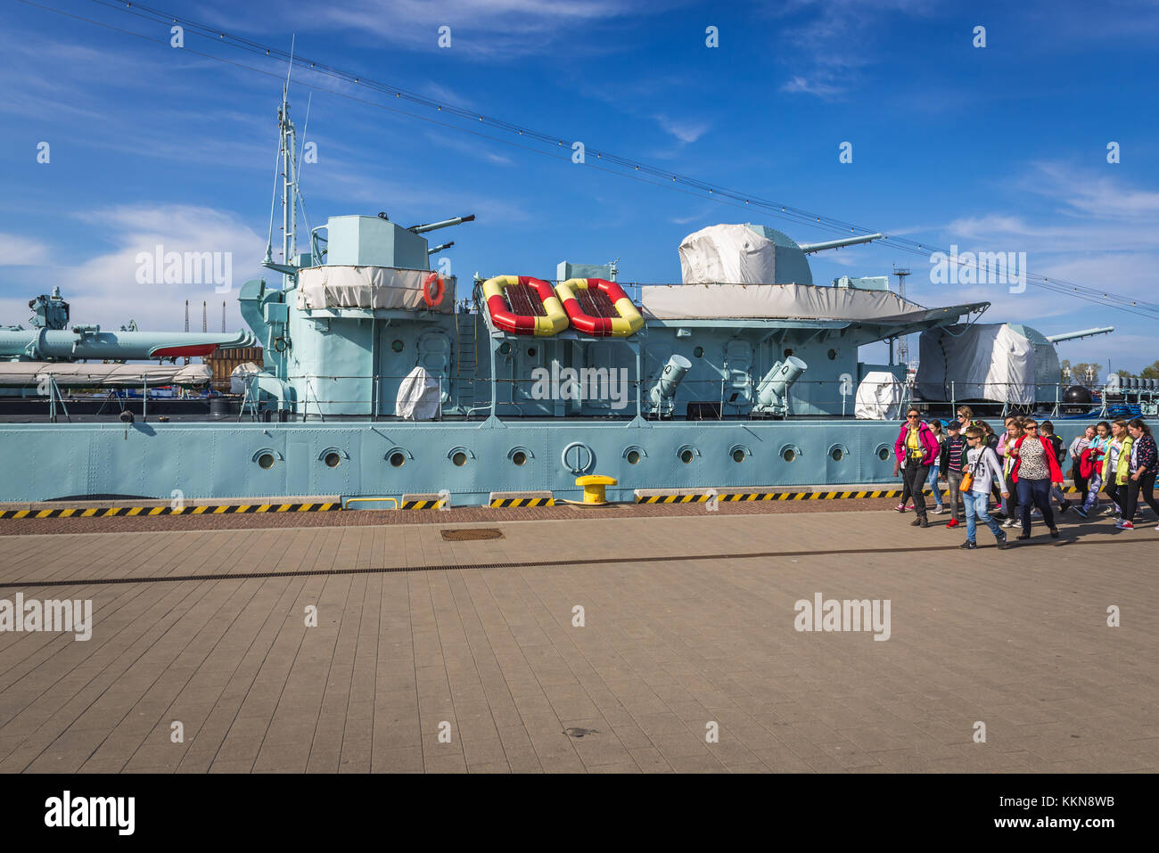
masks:
[[(409, 227), (335, 216), (299, 247), (285, 94), (278, 133), (282, 253), (271, 245), (267, 275), (239, 291), (249, 331), (73, 326), (58, 290), (30, 302), (32, 329), (0, 329), (0, 501), (391, 502), (359, 504), (380, 508), (578, 498), (591, 482), (613, 501), (872, 487), (896, 482), (911, 403), (946, 417), (964, 402), (1037, 410), (1067, 418), (1067, 440), (1108, 414), (1062, 384), (1054, 349), (1108, 329), (1048, 338), (979, 323), (986, 301), (924, 307), (888, 276), (814, 282), (810, 255), (880, 234), (799, 243), (717, 225), (683, 241), (683, 280), (670, 285), (621, 284), (617, 263), (569, 261), (552, 280), (509, 269), (460, 283), (429, 260), (451, 243), (425, 235), (473, 216)], [(894, 358), (913, 334), (916, 381)], [(859, 359), (875, 342), (889, 344), (887, 364)], [(238, 372), (235, 398), (151, 402), (151, 387), (207, 382), (178, 357), (255, 344), (263, 363)], [(1154, 385), (1117, 389), (1121, 404), (1154, 415)], [(74, 398), (70, 413), (70, 387), (108, 391), (108, 406), (81, 416)]]

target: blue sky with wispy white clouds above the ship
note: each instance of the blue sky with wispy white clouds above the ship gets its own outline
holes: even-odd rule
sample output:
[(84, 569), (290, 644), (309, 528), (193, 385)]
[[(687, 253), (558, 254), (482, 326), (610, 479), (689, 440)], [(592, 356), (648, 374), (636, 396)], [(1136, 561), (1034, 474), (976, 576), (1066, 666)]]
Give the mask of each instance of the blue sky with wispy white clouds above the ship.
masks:
[[(0, 9), (0, 323), (60, 284), (76, 322), (181, 328), (211, 286), (140, 285), (134, 257), (232, 251), (261, 275), (285, 65), (90, 0)], [(1034, 272), (1156, 301), (1159, 286), (1159, 6), (1109, 2), (763, 3), (608, 0), (153, 0), (161, 9), (379, 81), (583, 140), (589, 147), (861, 226), (948, 247), (1026, 251)], [(437, 44), (451, 28), (451, 46)], [(719, 29), (707, 48), (705, 30)], [(972, 46), (974, 28), (986, 46)], [(404, 225), (461, 213), (460, 278), (553, 277), (560, 260), (620, 258), (621, 279), (679, 280), (677, 247), (707, 225), (753, 220), (806, 242), (828, 232), (401, 116), (298, 75), (311, 225), (380, 210)], [(430, 110), (411, 107), (427, 117)], [(50, 144), (50, 162), (37, 145)], [(839, 145), (853, 145), (840, 163)], [(1107, 162), (1107, 144), (1121, 162)], [(1045, 334), (1113, 325), (1063, 344), (1072, 362), (1138, 370), (1159, 359), (1156, 322), (1028, 287), (932, 284), (927, 262), (880, 243), (814, 256), (814, 278), (907, 265), (924, 305), (989, 299), (987, 321)], [(240, 318), (232, 296), (228, 326)], [(216, 305), (214, 305), (216, 302)], [(196, 309), (199, 312), (199, 308)], [(199, 327), (199, 318), (195, 320)], [(866, 350), (867, 359), (881, 352)]]

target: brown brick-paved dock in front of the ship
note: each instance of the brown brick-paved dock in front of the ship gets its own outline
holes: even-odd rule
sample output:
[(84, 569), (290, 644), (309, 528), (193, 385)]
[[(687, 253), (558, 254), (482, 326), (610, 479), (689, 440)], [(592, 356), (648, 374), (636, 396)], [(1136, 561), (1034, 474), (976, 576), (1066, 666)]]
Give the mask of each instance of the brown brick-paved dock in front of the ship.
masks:
[[(0, 599), (94, 625), (0, 633), (0, 771), (1159, 770), (1153, 520), (967, 553), (880, 510), (494, 518), (21, 523)], [(817, 592), (889, 599), (888, 641), (797, 632)]]

